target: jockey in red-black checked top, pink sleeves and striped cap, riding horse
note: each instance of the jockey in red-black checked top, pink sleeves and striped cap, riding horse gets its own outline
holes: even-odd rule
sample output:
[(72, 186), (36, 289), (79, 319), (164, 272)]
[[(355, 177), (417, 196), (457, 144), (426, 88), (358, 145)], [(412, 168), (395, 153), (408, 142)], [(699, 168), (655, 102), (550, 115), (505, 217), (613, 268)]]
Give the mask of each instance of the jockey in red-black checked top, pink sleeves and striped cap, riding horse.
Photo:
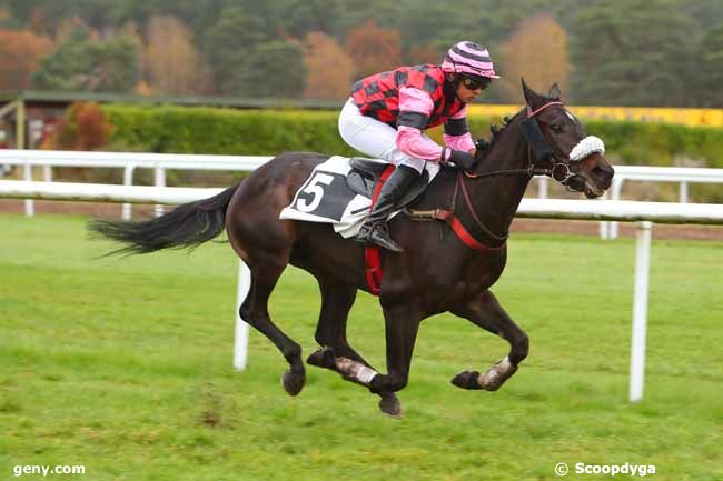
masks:
[[(356, 150), (397, 166), (361, 226), (358, 242), (402, 252), (389, 237), (387, 216), (427, 161), (454, 162), (463, 169), (474, 166), (466, 104), (498, 78), (487, 49), (462, 41), (439, 66), (400, 67), (354, 84), (339, 114), (341, 138)], [(444, 124), (444, 148), (424, 133), (439, 124)]]

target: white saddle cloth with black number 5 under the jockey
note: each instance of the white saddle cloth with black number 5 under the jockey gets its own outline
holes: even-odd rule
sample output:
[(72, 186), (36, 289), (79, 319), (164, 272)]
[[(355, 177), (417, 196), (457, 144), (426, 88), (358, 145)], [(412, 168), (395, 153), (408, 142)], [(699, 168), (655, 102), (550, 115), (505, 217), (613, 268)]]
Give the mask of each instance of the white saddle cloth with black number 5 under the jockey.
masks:
[[(341, 237), (354, 237), (369, 213), (374, 186), (388, 167), (374, 159), (330, 157), (311, 171), (279, 219), (330, 223)], [(423, 174), (397, 207), (402, 209), (415, 200), (438, 171), (439, 164), (427, 162)]]

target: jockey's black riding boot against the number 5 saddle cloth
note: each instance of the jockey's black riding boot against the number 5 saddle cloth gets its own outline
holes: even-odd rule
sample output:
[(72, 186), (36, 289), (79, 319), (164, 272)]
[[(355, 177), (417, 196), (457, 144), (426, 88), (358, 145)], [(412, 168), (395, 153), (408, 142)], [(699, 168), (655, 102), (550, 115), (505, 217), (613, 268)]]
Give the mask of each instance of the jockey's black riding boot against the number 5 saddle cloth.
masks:
[(419, 172), (407, 166), (399, 166), (392, 172), (382, 187), (379, 198), (369, 212), (369, 217), (359, 229), (356, 237), (357, 242), (370, 242), (394, 252), (402, 252), (402, 248), (392, 240), (387, 231), (387, 216), (418, 177)]

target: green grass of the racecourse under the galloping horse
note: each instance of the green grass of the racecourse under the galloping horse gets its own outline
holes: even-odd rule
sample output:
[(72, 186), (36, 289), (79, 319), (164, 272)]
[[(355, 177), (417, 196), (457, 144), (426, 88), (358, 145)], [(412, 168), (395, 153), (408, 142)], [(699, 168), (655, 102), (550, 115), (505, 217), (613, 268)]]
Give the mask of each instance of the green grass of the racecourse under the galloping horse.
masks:
[[(82, 464), (86, 475), (55, 478), (93, 481), (554, 480), (558, 462), (723, 479), (723, 242), (654, 242), (645, 398), (631, 404), (633, 241), (515, 236), (494, 290), (529, 358), (498, 392), (458, 390), (455, 373), (507, 345), (429, 319), (393, 420), (316, 368), (289, 398), (285, 362), (257, 332), (248, 370), (231, 369), (228, 245), (96, 259), (110, 244), (88, 240), (85, 220), (0, 216), (0, 480), (21, 464)], [(288, 269), (271, 314), (306, 354), (318, 309), (314, 279)], [(349, 339), (384, 367), (367, 294)]]

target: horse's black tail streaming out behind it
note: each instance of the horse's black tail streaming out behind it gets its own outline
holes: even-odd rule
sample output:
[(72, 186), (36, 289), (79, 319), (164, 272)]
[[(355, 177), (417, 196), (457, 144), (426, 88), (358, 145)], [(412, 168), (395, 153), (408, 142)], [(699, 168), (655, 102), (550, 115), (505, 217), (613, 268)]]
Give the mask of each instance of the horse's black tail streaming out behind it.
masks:
[(161, 249), (196, 248), (226, 227), (226, 208), (240, 182), (218, 196), (184, 203), (156, 219), (125, 222), (96, 219), (88, 229), (127, 244), (109, 253), (142, 254)]

